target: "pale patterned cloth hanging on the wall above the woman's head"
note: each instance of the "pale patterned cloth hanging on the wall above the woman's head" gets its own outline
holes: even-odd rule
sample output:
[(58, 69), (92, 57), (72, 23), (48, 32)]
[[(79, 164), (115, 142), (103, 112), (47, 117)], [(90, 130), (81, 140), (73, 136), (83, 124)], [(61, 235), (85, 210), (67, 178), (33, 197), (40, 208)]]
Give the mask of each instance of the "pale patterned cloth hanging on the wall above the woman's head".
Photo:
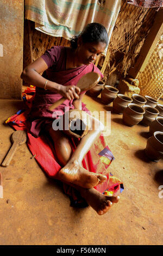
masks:
[(101, 23), (109, 39), (121, 8), (121, 0), (25, 0), (25, 18), (52, 36), (70, 39), (91, 22)]

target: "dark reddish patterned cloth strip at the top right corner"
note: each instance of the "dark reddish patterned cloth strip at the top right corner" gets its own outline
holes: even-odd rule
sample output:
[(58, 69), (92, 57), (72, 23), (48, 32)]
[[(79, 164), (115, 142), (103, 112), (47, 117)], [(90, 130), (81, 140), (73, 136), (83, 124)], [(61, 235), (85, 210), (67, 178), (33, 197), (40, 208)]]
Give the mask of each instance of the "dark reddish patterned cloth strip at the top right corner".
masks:
[(163, 0), (130, 0), (128, 4), (134, 4), (139, 7), (163, 7)]

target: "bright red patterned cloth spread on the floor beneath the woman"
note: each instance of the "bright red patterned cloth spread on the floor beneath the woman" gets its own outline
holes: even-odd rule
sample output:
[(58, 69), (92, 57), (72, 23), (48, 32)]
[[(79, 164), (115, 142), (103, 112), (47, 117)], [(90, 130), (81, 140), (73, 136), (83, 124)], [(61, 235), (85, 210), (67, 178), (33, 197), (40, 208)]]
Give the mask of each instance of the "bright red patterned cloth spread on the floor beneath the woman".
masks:
[[(12, 126), (15, 130), (27, 131), (27, 145), (31, 153), (35, 155), (35, 160), (49, 177), (55, 179), (55, 175), (59, 172), (61, 166), (57, 162), (57, 157), (55, 156), (51, 139), (45, 135), (45, 133), (37, 138), (30, 133), (31, 124), (29, 122), (29, 115), (34, 97), (35, 87), (31, 86), (23, 93), (23, 100), (26, 102), (28, 109), (18, 111), (15, 115), (8, 118), (5, 123)], [(73, 151), (76, 149), (78, 142), (79, 139), (70, 138), (70, 144)], [(107, 176), (106, 181), (102, 185), (95, 187), (96, 190), (107, 194), (108, 196), (117, 196), (123, 191), (123, 184), (120, 179), (113, 176), (108, 170), (112, 160), (114, 160), (114, 156), (112, 155), (108, 145), (106, 145), (104, 136), (100, 136), (99, 139), (97, 139), (96, 144), (91, 147), (89, 152), (84, 157), (82, 164), (83, 167), (90, 172), (98, 172)], [(68, 194), (68, 196), (71, 197), (71, 205), (78, 207), (87, 206), (85, 200), (81, 198), (79, 192), (74, 190), (74, 188), (71, 186), (64, 184), (64, 191), (66, 194)]]

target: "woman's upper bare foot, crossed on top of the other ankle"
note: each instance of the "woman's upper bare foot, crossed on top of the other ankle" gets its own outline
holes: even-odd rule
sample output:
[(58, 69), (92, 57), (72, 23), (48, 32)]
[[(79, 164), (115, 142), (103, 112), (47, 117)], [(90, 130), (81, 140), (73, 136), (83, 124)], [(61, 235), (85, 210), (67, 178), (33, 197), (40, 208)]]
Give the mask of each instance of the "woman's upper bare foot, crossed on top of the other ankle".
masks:
[(71, 182), (72, 184), (84, 188), (95, 187), (106, 180), (105, 175), (89, 172), (80, 166), (78, 161), (68, 162), (66, 166), (59, 171), (56, 178), (63, 182)]

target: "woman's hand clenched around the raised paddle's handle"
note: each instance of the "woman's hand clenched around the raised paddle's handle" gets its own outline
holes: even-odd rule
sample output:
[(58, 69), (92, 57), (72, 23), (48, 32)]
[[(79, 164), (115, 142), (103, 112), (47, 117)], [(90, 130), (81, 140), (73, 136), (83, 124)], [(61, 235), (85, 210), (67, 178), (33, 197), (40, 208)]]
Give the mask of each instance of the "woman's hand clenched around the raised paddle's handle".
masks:
[(62, 86), (60, 84), (58, 93), (64, 96), (67, 100), (79, 99), (80, 88), (77, 86)]

